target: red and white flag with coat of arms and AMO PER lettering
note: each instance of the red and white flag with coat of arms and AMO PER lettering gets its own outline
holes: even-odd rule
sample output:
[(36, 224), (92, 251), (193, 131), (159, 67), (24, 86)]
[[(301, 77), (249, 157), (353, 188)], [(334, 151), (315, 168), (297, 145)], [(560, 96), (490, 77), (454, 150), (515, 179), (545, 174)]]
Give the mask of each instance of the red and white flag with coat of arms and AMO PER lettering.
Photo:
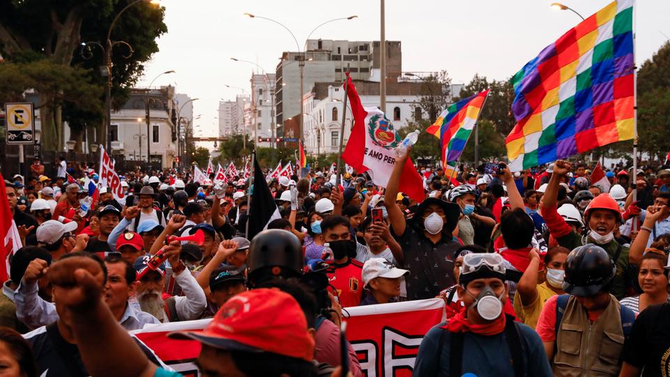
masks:
[[(368, 172), (376, 185), (386, 188), (396, 161), (394, 149), (401, 142), (400, 135), (381, 110), (363, 107), (351, 77), (347, 80), (354, 128), (342, 158), (357, 172)], [(422, 202), (426, 196), (421, 176), (411, 158), (403, 168), (399, 190), (417, 202)]]

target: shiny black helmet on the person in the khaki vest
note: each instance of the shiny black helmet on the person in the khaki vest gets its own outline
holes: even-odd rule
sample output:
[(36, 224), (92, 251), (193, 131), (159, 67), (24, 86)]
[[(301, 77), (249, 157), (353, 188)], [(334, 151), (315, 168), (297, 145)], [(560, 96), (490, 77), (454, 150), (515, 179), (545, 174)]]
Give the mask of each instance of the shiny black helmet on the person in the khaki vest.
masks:
[(593, 296), (616, 274), (616, 265), (602, 247), (586, 244), (575, 248), (565, 260), (563, 290), (575, 296)]

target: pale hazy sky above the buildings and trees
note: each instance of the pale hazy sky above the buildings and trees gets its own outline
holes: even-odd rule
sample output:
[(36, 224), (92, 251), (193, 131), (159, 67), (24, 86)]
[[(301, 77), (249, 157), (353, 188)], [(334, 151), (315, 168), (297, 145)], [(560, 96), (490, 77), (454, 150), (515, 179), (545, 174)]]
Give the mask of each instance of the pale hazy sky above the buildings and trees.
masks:
[[(386, 1), (386, 38), (400, 40), (403, 71), (445, 70), (454, 83), (468, 82), (479, 73), (507, 79), (540, 50), (579, 23), (569, 10), (549, 8), (544, 0), (414, 0)], [(610, 0), (566, 0), (584, 17)], [(269, 17), (291, 29), (305, 43), (318, 24), (358, 15), (320, 27), (311, 39), (379, 40), (378, 0), (162, 0), (168, 33), (158, 40), (160, 52), (147, 62), (139, 85), (176, 85), (195, 101), (193, 114), (202, 114), (196, 135), (218, 133), (219, 98), (233, 99), (239, 89), (250, 91), (254, 66), (230, 57), (255, 61), (274, 72), (281, 52), (296, 50), (288, 31), (278, 24), (248, 18)], [(665, 36), (664, 36), (665, 34)], [(636, 62), (641, 64), (670, 36), (670, 1), (636, 1)]]

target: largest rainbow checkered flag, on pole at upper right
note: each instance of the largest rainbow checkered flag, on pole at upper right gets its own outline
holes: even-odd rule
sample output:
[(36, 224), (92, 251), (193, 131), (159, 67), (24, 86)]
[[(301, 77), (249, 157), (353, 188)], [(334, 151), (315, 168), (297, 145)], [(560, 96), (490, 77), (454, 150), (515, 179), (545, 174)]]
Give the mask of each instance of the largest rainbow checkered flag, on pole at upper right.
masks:
[(505, 140), (512, 171), (633, 138), (632, 22), (633, 0), (614, 1), (512, 77), (516, 126)]

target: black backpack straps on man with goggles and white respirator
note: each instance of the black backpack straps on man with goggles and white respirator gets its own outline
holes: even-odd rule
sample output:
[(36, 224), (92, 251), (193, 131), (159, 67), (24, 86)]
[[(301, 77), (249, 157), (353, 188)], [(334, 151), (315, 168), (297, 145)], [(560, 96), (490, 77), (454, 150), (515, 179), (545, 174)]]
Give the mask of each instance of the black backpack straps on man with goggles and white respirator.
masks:
[[(514, 367), (514, 376), (523, 377), (525, 375), (526, 360), (523, 357), (523, 350), (528, 350), (526, 337), (519, 330), (519, 324), (514, 321), (514, 317), (505, 314), (505, 340), (509, 354), (512, 356), (512, 367)], [(442, 348), (446, 341), (445, 332), (440, 333), (440, 348), (438, 350), (438, 364), (442, 356)], [(465, 333), (452, 332), (449, 341), (449, 375), (461, 376), (463, 369), (463, 341)]]

